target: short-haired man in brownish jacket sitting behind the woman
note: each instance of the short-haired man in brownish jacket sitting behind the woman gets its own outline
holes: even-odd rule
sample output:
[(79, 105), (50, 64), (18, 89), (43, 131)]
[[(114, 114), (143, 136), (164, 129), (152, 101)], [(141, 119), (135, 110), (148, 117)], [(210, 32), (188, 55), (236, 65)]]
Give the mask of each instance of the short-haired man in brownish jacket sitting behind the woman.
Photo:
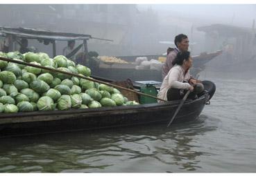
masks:
[(174, 39), (174, 43), (176, 45), (176, 48), (169, 52), (169, 54), (167, 55), (167, 60), (162, 66), (162, 79), (164, 79), (169, 70), (172, 68), (172, 61), (176, 58), (178, 52), (187, 51), (189, 49), (189, 39), (187, 38), (187, 35), (177, 35)]

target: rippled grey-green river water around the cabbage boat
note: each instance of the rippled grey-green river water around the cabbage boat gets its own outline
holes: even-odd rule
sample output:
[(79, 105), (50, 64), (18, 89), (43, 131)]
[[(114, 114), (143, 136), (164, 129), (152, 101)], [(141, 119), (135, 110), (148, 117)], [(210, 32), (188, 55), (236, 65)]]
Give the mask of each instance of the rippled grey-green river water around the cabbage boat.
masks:
[(216, 93), (195, 121), (1, 139), (0, 173), (256, 172), (256, 79), (200, 78)]

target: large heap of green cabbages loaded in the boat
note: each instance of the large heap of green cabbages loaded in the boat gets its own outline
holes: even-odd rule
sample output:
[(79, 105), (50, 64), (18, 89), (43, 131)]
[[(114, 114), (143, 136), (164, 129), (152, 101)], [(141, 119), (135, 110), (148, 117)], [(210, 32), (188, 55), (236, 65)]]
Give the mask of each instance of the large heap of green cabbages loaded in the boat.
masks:
[[(1, 57), (89, 77), (91, 70), (65, 56), (51, 59), (44, 52), (0, 52)], [(69, 110), (138, 104), (119, 90), (94, 81), (59, 72), (0, 60), (0, 113), (36, 110)]]

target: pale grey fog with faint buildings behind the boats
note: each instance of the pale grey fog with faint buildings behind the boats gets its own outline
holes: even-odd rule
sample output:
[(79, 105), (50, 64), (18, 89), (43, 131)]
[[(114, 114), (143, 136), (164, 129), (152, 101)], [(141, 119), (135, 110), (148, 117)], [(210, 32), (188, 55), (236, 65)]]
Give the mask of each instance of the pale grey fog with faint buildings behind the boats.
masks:
[[(224, 50), (212, 68), (255, 66), (255, 4), (1, 4), (0, 26), (92, 35), (88, 50), (99, 55), (160, 55), (189, 37), (192, 55)], [(76, 43), (76, 46), (79, 43)], [(29, 41), (51, 56), (51, 45)], [(57, 55), (67, 42), (58, 41)], [(246, 65), (246, 63), (248, 63)], [(237, 66), (235, 66), (237, 64)], [(226, 66), (232, 65), (231, 68)], [(237, 67), (237, 68), (236, 68)], [(253, 69), (253, 68), (252, 68)]]

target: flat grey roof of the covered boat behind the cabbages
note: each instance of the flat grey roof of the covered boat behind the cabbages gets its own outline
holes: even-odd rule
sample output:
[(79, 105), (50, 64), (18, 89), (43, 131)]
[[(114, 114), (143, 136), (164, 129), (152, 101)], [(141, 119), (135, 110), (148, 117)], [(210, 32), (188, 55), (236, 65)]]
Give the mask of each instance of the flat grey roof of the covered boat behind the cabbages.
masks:
[(53, 32), (50, 30), (33, 29), (33, 28), (12, 28), (0, 26), (0, 35), (15, 35), (16, 37), (24, 37), (26, 39), (51, 39), (58, 41), (69, 40), (88, 40), (99, 39), (105, 41), (112, 41), (109, 39), (101, 39), (92, 37), (91, 35), (76, 34), (71, 32)]

